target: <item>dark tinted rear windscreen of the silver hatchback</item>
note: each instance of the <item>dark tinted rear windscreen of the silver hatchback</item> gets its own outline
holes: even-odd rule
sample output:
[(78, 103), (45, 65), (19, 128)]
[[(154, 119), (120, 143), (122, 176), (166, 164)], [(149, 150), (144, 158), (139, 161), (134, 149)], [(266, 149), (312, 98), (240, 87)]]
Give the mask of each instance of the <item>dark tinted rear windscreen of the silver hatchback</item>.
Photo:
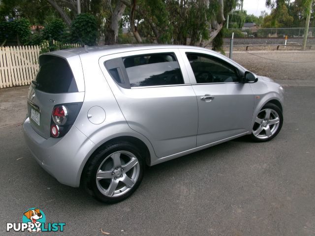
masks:
[(33, 84), (36, 89), (48, 93), (78, 91), (67, 61), (51, 55), (39, 57), (39, 70)]

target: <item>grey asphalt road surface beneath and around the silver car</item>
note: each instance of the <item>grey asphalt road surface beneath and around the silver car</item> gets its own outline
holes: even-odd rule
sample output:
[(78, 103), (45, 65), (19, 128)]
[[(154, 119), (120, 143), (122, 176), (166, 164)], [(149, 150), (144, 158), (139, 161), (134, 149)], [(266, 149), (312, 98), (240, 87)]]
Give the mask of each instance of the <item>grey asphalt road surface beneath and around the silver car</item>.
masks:
[[(285, 88), (284, 125), (271, 142), (242, 137), (147, 168), (137, 191), (115, 205), (36, 164), (15, 122), (27, 88), (14, 90), (0, 90), (0, 235), (30, 207), (46, 222), (65, 222), (64, 235), (315, 235), (314, 87)], [(18, 95), (10, 102), (7, 94)]]

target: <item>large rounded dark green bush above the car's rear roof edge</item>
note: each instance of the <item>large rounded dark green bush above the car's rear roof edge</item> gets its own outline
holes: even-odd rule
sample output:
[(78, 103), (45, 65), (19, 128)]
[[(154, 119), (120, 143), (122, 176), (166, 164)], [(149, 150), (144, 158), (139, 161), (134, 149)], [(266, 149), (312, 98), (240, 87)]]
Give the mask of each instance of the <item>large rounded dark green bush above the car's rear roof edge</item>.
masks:
[(96, 19), (89, 13), (78, 15), (71, 24), (71, 41), (93, 46), (96, 44)]

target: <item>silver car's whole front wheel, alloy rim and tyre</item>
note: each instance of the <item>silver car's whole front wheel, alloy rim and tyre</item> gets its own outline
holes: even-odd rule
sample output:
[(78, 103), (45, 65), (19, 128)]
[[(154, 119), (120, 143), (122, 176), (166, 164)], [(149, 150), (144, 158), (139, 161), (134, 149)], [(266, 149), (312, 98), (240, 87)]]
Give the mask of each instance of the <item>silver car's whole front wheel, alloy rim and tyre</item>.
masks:
[(269, 141), (277, 136), (283, 124), (281, 109), (267, 103), (258, 113), (252, 127), (252, 139), (259, 142)]

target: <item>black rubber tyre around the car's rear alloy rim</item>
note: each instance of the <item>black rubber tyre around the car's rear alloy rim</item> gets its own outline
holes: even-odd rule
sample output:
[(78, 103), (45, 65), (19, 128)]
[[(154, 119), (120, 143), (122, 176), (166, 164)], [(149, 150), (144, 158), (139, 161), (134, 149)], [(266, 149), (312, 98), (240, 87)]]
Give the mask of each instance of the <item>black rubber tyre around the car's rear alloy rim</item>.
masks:
[[(100, 190), (100, 188), (102, 188), (102, 186), (100, 184), (100, 181), (98, 181), (98, 182), (96, 181), (96, 174), (97, 174), (101, 164), (102, 165), (105, 165), (105, 164), (106, 165), (110, 165), (110, 164), (107, 164), (106, 162), (110, 162), (111, 157), (109, 157), (109, 156), (111, 154), (117, 153), (117, 152), (121, 152), (121, 151), (122, 152), (125, 151), (125, 152), (132, 153), (134, 155), (134, 157), (136, 157), (136, 159), (138, 160), (139, 165), (136, 167), (136, 168), (139, 167), (139, 171), (137, 171), (138, 177), (136, 178), (136, 180), (134, 182), (134, 185), (132, 187), (128, 188), (127, 185), (125, 186), (125, 188), (127, 188), (126, 190), (124, 190), (124, 191), (126, 191), (125, 194), (118, 193), (118, 195), (119, 194), (122, 194), (122, 195), (117, 196), (117, 197), (115, 197), (115, 196), (111, 196), (111, 197), (105, 196), (103, 194), (104, 191), (102, 192)], [(125, 155), (125, 154), (122, 153), (120, 155)], [(123, 157), (124, 156), (119, 157), (119, 158), (122, 160)], [(111, 161), (112, 161), (113, 168), (115, 168), (115, 166), (114, 166), (115, 165), (114, 164), (114, 158)], [(103, 162), (104, 162), (104, 164), (103, 164)], [(123, 160), (122, 160), (122, 163), (123, 163)], [(127, 164), (127, 161), (126, 161), (125, 164)], [(134, 172), (134, 170), (135, 170), (134, 168), (135, 167), (132, 167), (132, 168), (133, 168), (132, 172)], [(111, 144), (108, 144), (108, 145), (104, 146), (100, 150), (98, 150), (91, 157), (91, 159), (89, 160), (89, 162), (87, 163), (87, 165), (86, 165), (86, 167), (84, 168), (84, 171), (83, 171), (82, 185), (83, 185), (83, 187), (86, 188), (88, 193), (91, 194), (92, 196), (94, 196), (97, 200), (99, 200), (101, 202), (104, 202), (104, 203), (108, 203), (108, 204), (118, 203), (118, 202), (121, 202), (121, 201), (125, 200), (126, 198), (128, 198), (138, 188), (138, 186), (140, 185), (141, 180), (143, 178), (144, 169), (145, 169), (145, 158), (141, 154), (141, 151), (135, 145), (133, 145), (133, 144), (131, 144), (129, 142), (125, 142), (125, 141), (122, 141), (122, 142), (119, 142), (119, 143), (111, 143)], [(121, 170), (123, 170), (123, 169), (121, 169)], [(115, 170), (113, 169), (113, 172), (114, 171)], [(119, 171), (120, 170), (118, 170), (117, 172), (119, 172)], [(122, 172), (121, 174), (122, 175), (124, 174), (124, 177), (125, 177), (125, 174), (127, 175), (128, 172), (127, 173), (123, 173)], [(115, 176), (116, 176), (116, 174), (115, 174)], [(117, 176), (117, 177), (118, 177), (117, 181), (119, 181), (120, 180), (119, 179), (120, 176)], [(114, 176), (113, 176), (113, 178), (114, 178)], [(113, 178), (110, 179), (110, 180), (108, 180), (109, 178), (106, 178), (106, 181), (110, 181), (110, 184), (111, 184), (114, 181)], [(123, 179), (123, 177), (122, 177), (122, 179)], [(130, 178), (130, 179), (132, 179), (132, 178)], [(119, 183), (120, 184), (124, 184), (122, 181), (119, 181)], [(117, 187), (119, 187), (119, 185)], [(110, 187), (108, 187), (108, 189), (109, 188)], [(122, 192), (121, 190), (116, 190), (115, 192), (117, 192), (117, 191)], [(114, 195), (116, 195), (116, 194), (114, 194)]]

